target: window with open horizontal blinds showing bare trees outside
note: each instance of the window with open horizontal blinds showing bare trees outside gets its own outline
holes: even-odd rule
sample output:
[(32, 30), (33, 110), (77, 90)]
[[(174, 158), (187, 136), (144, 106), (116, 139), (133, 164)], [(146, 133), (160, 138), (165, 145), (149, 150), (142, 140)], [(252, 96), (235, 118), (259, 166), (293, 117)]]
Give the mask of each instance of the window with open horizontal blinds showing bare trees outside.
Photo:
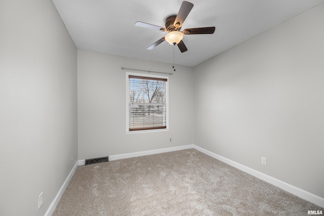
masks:
[(168, 129), (168, 77), (127, 73), (126, 132)]

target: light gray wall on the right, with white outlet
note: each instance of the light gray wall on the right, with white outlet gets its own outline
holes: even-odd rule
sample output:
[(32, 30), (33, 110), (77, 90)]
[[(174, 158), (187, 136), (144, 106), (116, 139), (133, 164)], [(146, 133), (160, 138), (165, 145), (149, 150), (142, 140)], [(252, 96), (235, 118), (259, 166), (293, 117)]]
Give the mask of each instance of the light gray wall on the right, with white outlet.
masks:
[(196, 66), (194, 144), (324, 197), (323, 20), (320, 4)]

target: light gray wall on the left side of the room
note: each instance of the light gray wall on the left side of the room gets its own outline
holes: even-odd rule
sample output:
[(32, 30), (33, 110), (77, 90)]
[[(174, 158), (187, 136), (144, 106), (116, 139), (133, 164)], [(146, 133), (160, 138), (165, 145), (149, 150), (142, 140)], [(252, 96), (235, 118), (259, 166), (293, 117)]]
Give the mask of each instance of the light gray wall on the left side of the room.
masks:
[(44, 215), (77, 161), (76, 60), (52, 1), (1, 1), (0, 215)]

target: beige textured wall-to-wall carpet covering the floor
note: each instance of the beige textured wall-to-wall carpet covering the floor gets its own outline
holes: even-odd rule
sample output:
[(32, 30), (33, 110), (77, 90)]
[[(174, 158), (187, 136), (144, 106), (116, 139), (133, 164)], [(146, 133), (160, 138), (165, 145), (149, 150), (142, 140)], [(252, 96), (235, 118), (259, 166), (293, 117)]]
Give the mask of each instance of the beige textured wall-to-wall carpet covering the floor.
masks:
[(53, 216), (307, 215), (322, 210), (195, 149), (79, 166)]

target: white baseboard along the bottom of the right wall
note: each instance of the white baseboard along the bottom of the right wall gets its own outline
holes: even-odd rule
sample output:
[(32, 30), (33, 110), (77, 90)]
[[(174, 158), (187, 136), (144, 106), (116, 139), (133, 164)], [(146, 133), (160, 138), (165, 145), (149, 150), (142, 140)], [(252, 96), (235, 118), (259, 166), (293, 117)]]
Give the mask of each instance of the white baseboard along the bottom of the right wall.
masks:
[(208, 151), (206, 149), (203, 149), (203, 148), (201, 148), (199, 146), (193, 145), (193, 148), (200, 151), (200, 152), (203, 152), (203, 153), (205, 153), (205, 154), (207, 154), (207, 155), (209, 155), (211, 157), (214, 157), (214, 158), (216, 158), (216, 159), (218, 159), (218, 160), (220, 160), (220, 161), (222, 161), (224, 163), (227, 163), (227, 164), (229, 164), (229, 165), (231, 165), (231, 166), (233, 166), (233, 167), (235, 167), (237, 169), (240, 169), (240, 170), (242, 170), (244, 172), (247, 172), (248, 174), (257, 177), (258, 179), (261, 179), (261, 180), (263, 180), (265, 182), (268, 182), (268, 183), (270, 183), (270, 184), (272, 184), (272, 185), (274, 185), (274, 186), (276, 186), (278, 188), (281, 188), (282, 190), (288, 191), (289, 193), (292, 193), (292, 194), (294, 194), (294, 195), (296, 195), (296, 196), (298, 196), (298, 197), (300, 197), (302, 199), (305, 199), (305, 200), (307, 200), (309, 202), (312, 202), (312, 203), (314, 203), (314, 204), (316, 204), (318, 206), (324, 207), (324, 198), (322, 198), (320, 196), (309, 193), (308, 191), (297, 188), (297, 187), (295, 187), (293, 185), (290, 185), (290, 184), (288, 184), (286, 182), (282, 182), (282, 181), (280, 181), (278, 179), (275, 179), (275, 178), (273, 178), (271, 176), (263, 174), (262, 172), (259, 172), (259, 171), (255, 170), (255, 169), (252, 169), (252, 168), (248, 167), (248, 166), (237, 163), (237, 162), (235, 162), (233, 160), (230, 160), (230, 159), (228, 159), (226, 157), (215, 154), (215, 153), (213, 153), (211, 151)]

